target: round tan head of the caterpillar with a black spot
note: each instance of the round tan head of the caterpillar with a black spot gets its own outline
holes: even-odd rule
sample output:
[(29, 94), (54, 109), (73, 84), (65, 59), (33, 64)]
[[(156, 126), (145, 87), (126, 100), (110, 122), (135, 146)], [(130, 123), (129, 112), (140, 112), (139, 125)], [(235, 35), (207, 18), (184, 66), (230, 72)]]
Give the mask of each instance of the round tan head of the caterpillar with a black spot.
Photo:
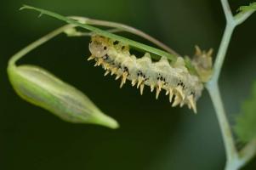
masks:
[(89, 50), (92, 55), (97, 58), (101, 58), (107, 54), (109, 48), (109, 41), (105, 37), (93, 36), (92, 41), (89, 44)]

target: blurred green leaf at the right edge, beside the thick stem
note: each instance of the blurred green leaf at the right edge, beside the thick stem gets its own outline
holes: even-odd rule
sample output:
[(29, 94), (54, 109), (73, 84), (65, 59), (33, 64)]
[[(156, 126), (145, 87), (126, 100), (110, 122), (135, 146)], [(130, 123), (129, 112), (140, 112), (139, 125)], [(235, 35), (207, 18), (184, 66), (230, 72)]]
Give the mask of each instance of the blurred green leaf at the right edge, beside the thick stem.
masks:
[(252, 96), (242, 103), (241, 113), (236, 117), (235, 132), (242, 142), (256, 138), (256, 82)]

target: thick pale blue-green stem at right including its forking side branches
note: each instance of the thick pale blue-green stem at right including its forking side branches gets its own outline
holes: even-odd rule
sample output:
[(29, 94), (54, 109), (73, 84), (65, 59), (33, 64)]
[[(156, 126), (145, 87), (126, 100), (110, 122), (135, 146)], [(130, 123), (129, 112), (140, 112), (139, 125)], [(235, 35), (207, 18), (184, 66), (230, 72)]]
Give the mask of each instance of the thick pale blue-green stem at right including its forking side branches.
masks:
[(219, 74), (223, 66), (225, 55), (230, 43), (232, 33), (236, 26), (245, 21), (252, 12), (236, 14), (234, 17), (230, 11), (230, 5), (227, 0), (221, 0), (222, 7), (225, 12), (226, 26), (225, 32), (220, 42), (219, 51), (213, 66), (213, 77), (206, 84), (208, 93), (213, 102), (214, 110), (219, 121), (222, 138), (225, 144), (226, 165), (225, 170), (237, 170), (244, 166), (256, 152), (256, 139), (247, 144), (247, 146), (240, 152), (236, 150), (235, 140), (232, 136), (230, 123), (225, 114), (225, 108), (219, 93)]

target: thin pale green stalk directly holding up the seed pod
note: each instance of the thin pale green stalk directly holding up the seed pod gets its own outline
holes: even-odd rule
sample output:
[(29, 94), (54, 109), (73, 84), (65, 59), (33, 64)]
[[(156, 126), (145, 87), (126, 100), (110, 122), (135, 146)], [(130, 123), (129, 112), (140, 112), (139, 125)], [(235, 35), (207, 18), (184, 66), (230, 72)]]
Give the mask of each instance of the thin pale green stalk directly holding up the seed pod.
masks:
[(52, 39), (53, 37), (58, 36), (60, 33), (62, 33), (63, 31), (65, 31), (67, 29), (70, 29), (71, 27), (74, 27), (74, 26), (71, 26), (71, 25), (62, 26), (62, 27), (48, 33), (46, 36), (41, 37), (37, 41), (32, 42), (30, 45), (26, 46), (26, 48), (23, 48), (17, 54), (14, 54), (14, 56), (11, 59), (9, 59), (9, 65), (15, 65), (17, 60), (19, 60), (21, 57), (23, 57), (24, 55), (31, 52), (31, 50), (39, 47), (44, 42), (48, 42), (48, 40)]

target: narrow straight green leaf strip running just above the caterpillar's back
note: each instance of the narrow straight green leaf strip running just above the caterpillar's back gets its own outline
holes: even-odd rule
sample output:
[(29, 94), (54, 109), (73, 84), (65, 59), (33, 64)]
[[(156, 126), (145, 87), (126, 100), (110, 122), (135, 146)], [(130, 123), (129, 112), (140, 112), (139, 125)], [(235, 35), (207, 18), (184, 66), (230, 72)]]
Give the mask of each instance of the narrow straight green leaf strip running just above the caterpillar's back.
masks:
[(82, 27), (84, 29), (87, 29), (88, 31), (93, 31), (96, 34), (99, 34), (99, 35), (104, 36), (104, 37), (109, 37), (109, 38), (117, 40), (119, 42), (124, 42), (124, 43), (130, 45), (131, 47), (143, 49), (144, 51), (147, 51), (149, 53), (156, 54), (156, 56), (157, 56), (156, 59), (160, 59), (161, 56), (166, 56), (169, 60), (174, 61), (177, 58), (174, 54), (168, 54), (167, 52), (162, 51), (161, 49), (152, 48), (151, 46), (145, 45), (145, 44), (140, 43), (140, 42), (135, 42), (135, 41), (130, 40), (126, 37), (117, 36), (115, 34), (112, 34), (109, 31), (103, 31), (103, 30), (101, 30), (99, 28), (96, 28), (94, 26), (89, 26), (87, 24), (82, 24), (82, 23), (78, 22), (77, 20), (72, 20), (68, 17), (65, 17), (65, 16), (60, 15), (60, 14), (53, 13), (53, 12), (48, 11), (48, 10), (44, 10), (42, 8), (34, 8), (34, 7), (31, 7), (31, 6), (28, 6), (28, 5), (24, 5), (22, 8), (20, 8), (20, 10), (22, 10), (22, 9), (36, 10), (36, 11), (41, 13), (40, 15), (47, 14), (47, 15), (52, 16), (52, 17), (54, 17), (58, 20), (63, 20), (68, 24), (72, 24), (72, 25), (75, 25), (75, 26)]

